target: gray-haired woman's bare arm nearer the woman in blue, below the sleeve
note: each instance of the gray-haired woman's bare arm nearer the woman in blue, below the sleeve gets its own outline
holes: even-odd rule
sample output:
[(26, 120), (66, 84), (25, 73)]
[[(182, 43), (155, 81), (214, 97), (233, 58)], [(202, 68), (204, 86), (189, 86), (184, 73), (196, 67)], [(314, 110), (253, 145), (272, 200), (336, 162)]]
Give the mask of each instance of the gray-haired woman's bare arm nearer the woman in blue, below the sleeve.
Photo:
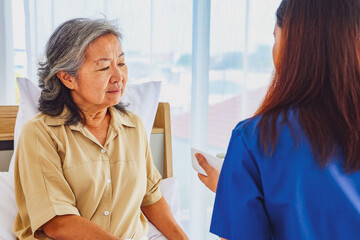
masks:
[(189, 239), (181, 227), (176, 223), (164, 197), (161, 197), (159, 201), (150, 206), (141, 207), (141, 211), (168, 239)]

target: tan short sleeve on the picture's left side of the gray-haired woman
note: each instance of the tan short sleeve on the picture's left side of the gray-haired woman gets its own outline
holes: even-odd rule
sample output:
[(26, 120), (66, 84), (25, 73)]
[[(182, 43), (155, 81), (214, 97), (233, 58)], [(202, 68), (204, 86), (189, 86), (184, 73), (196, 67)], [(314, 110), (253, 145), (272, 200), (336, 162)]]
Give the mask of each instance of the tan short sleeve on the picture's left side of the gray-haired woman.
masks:
[(79, 215), (75, 196), (63, 175), (56, 144), (45, 128), (41, 123), (27, 123), (15, 157), (19, 215), (30, 220), (33, 233), (56, 215)]

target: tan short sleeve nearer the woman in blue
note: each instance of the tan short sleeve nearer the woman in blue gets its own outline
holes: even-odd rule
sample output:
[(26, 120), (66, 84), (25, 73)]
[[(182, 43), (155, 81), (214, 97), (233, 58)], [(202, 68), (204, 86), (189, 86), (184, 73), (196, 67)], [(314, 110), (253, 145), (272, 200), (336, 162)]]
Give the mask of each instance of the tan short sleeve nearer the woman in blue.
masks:
[(161, 175), (154, 164), (151, 154), (151, 149), (147, 140), (145, 128), (143, 129), (143, 132), (144, 132), (143, 142), (146, 149), (145, 158), (146, 158), (147, 186), (146, 186), (146, 195), (144, 196), (141, 206), (146, 207), (159, 201), (160, 198), (162, 197), (162, 194), (159, 188)]

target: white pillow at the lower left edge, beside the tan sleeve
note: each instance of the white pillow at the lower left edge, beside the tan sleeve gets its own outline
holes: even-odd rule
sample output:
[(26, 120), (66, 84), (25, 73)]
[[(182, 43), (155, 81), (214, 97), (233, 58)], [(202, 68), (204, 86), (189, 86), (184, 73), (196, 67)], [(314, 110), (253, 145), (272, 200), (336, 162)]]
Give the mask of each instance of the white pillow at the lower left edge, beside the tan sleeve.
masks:
[(15, 239), (12, 231), (15, 217), (18, 212), (12, 174), (0, 172), (0, 238)]

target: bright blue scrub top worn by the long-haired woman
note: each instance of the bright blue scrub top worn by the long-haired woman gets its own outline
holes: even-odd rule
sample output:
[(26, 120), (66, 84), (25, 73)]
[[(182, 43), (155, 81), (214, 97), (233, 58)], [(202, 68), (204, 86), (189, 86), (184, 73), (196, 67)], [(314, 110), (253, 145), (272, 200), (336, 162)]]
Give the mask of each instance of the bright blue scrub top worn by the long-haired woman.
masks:
[(360, 171), (347, 174), (340, 151), (321, 168), (296, 114), (288, 118), (295, 136), (285, 124), (271, 156), (259, 144), (259, 117), (235, 127), (210, 231), (231, 240), (360, 239)]

